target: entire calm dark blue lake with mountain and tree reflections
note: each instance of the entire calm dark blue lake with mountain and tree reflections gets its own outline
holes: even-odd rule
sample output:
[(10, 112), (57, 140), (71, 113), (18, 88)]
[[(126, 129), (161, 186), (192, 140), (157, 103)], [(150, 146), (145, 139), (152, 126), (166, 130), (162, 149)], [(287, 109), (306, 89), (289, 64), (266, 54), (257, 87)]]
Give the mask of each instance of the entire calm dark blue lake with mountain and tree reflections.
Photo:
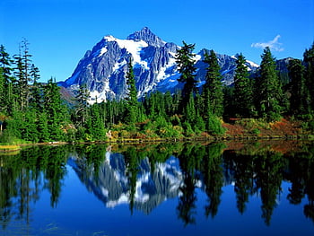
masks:
[(314, 235), (314, 144), (0, 154), (0, 235)]

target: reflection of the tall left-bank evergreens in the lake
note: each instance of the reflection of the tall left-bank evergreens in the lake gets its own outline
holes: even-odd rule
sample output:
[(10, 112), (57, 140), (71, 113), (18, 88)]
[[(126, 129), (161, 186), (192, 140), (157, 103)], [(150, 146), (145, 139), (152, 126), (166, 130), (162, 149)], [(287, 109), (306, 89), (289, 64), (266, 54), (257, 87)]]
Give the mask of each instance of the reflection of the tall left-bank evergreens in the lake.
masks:
[(50, 205), (57, 207), (65, 178), (64, 147), (31, 147), (16, 155), (0, 155), (0, 223), (30, 223), (31, 203), (48, 189)]

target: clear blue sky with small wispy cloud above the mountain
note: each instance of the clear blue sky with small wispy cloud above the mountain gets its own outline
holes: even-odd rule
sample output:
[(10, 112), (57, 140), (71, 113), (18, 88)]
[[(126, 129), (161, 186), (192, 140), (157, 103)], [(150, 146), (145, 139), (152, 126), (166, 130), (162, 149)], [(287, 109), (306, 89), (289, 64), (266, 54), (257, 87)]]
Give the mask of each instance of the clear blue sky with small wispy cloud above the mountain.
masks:
[(313, 0), (1, 0), (0, 44), (11, 56), (30, 42), (41, 81), (64, 81), (105, 35), (118, 39), (147, 26), (165, 41), (260, 63), (265, 46), (276, 58), (302, 58), (314, 41)]

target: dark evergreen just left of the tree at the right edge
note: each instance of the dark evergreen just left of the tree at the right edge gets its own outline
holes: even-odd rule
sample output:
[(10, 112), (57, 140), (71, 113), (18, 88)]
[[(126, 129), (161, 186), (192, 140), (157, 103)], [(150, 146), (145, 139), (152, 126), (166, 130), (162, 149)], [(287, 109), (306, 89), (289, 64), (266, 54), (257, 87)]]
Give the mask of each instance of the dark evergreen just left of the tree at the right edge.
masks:
[(309, 113), (307, 106), (308, 92), (305, 87), (304, 66), (301, 60), (293, 59), (288, 66), (289, 77), (291, 80), (290, 110), (294, 115)]

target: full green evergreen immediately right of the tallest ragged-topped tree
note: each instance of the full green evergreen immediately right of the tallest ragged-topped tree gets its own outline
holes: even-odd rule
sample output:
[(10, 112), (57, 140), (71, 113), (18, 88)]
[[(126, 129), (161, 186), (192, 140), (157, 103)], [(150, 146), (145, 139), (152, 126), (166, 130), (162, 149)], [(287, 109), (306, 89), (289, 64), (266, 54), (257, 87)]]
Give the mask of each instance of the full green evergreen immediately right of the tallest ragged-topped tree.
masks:
[(211, 50), (209, 55), (205, 54), (204, 62), (208, 65), (203, 88), (205, 112), (221, 117), (223, 113), (222, 74), (219, 72), (220, 66), (214, 50)]

